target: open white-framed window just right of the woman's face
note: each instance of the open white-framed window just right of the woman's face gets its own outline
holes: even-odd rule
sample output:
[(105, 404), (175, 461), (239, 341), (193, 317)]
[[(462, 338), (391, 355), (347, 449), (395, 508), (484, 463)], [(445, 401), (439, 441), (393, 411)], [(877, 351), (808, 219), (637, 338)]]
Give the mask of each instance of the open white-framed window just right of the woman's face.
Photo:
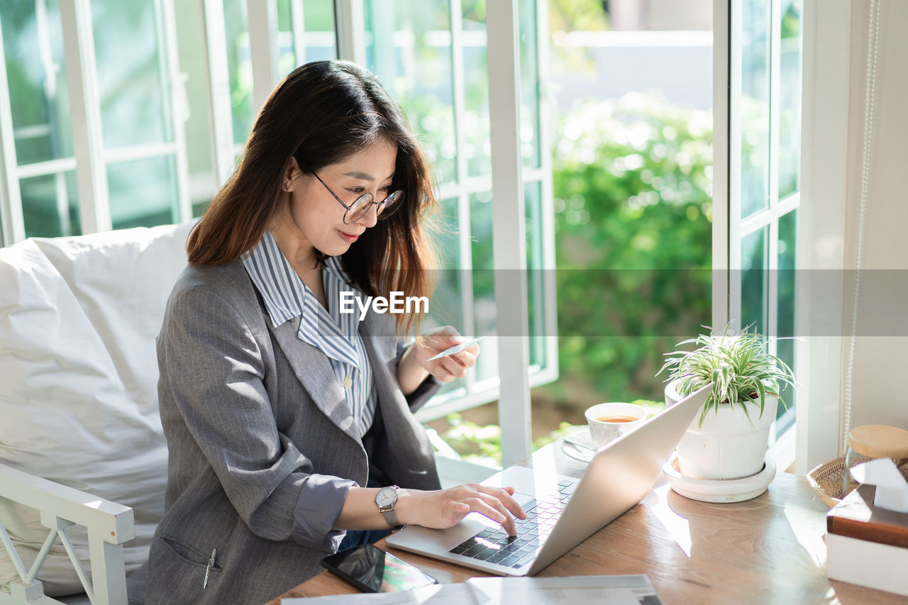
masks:
[[(538, 43), (548, 34), (544, 7), (538, 4), (545, 3), (518, 3), (517, 15), (519, 154), (526, 213), (525, 263), (529, 269), (529, 338), (519, 340), (528, 347), (530, 385), (554, 380), (558, 372), (554, 339), (547, 337), (555, 333), (554, 289), (545, 283), (550, 272), (542, 271), (554, 264), (554, 241), (550, 220), (551, 168), (540, 84), (544, 59)], [(484, 2), (367, 1), (362, 15), (365, 35), (358, 42), (363, 48), (351, 51), (365, 56), (366, 65), (400, 101), (436, 168), (444, 268), (430, 309), (432, 319), (454, 325), (469, 335), (507, 337), (482, 343), (483, 352), (467, 377), (446, 385), (419, 412), (423, 422), (497, 400), (501, 395), (502, 355), (498, 344), (515, 340), (511, 336), (527, 335), (499, 333), (496, 320), (500, 316), (496, 292), (501, 287), (497, 278), (508, 276), (497, 276), (493, 261), (496, 235), (492, 221), (490, 126), (495, 104), (489, 92), (489, 61), (495, 58), (488, 52), (486, 16)], [(509, 57), (498, 61), (508, 62), (508, 69), (512, 69)], [(522, 410), (515, 413), (528, 419), (528, 400), (519, 402), (519, 406)], [(502, 412), (499, 408), (499, 417)], [(513, 437), (508, 431), (517, 429), (515, 425), (519, 424), (502, 426), (506, 459), (518, 460), (528, 452), (528, 439), (523, 440), (527, 443), (522, 448), (508, 451), (508, 437)], [(513, 442), (521, 439), (515, 437)]]

